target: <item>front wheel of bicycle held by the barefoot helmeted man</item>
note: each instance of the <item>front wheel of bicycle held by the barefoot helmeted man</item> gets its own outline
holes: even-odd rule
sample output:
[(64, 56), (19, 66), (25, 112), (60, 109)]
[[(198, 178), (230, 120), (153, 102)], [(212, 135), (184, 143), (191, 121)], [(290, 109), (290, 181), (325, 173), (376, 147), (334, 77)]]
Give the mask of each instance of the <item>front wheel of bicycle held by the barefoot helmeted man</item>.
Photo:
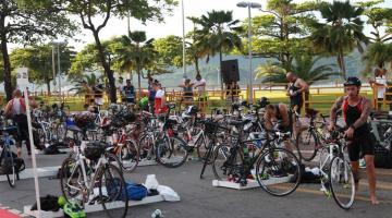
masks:
[(354, 204), (355, 181), (348, 161), (341, 157), (334, 157), (329, 173), (334, 201), (341, 208), (350, 209)]

